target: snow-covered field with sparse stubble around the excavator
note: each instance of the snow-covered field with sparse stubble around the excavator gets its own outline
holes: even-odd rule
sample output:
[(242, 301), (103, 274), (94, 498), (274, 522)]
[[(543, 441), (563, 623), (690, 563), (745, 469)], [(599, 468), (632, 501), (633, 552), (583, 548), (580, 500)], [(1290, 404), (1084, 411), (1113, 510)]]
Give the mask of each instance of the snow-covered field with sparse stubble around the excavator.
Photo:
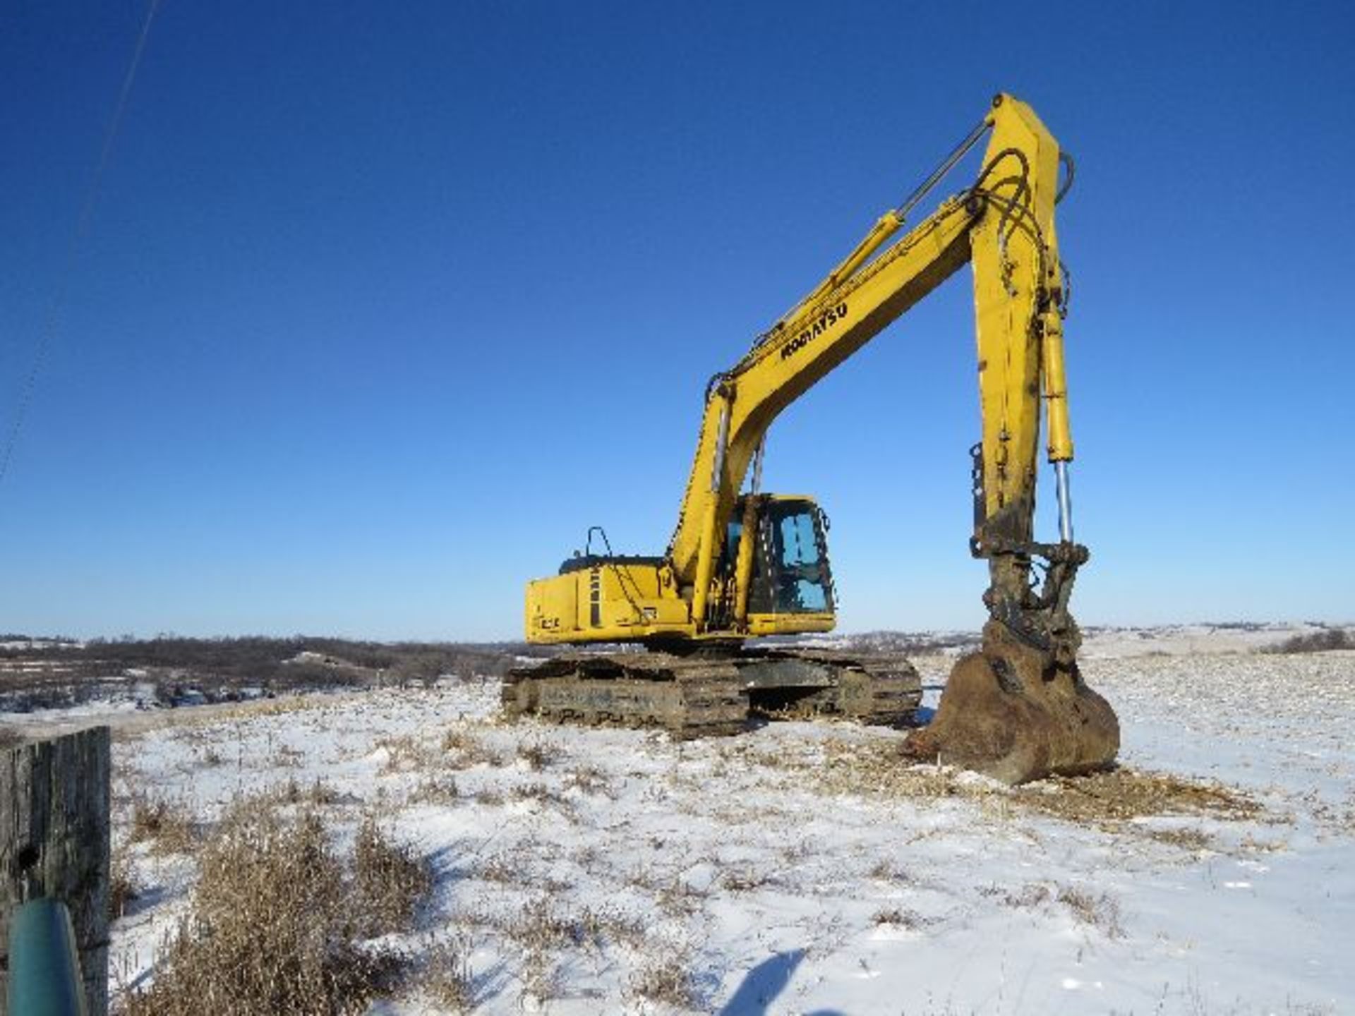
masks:
[[(195, 878), (130, 843), (131, 802), (210, 824), (290, 787), (339, 840), (377, 814), (430, 860), (404, 944), (450, 943), (476, 1012), (1355, 1012), (1355, 653), (1148, 642), (1084, 654), (1123, 768), (1016, 791), (905, 767), (878, 727), (503, 725), (495, 681), (115, 718), (140, 889), (115, 990), (153, 977)], [(916, 662), (934, 703), (951, 658)]]

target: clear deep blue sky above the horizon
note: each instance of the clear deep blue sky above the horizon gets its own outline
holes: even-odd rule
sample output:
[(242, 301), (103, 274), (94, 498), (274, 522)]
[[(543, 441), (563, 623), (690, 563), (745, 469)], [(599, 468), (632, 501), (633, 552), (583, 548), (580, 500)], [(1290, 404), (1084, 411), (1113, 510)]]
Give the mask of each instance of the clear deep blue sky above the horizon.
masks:
[[(0, 19), (4, 432), (144, 11)], [(1079, 616), (1355, 619), (1355, 14), (1038, 15), (164, 0), (0, 482), (0, 629), (516, 637), (589, 524), (663, 549), (706, 378), (1000, 89), (1077, 158)], [(843, 629), (982, 620), (977, 433), (967, 274), (774, 425)]]

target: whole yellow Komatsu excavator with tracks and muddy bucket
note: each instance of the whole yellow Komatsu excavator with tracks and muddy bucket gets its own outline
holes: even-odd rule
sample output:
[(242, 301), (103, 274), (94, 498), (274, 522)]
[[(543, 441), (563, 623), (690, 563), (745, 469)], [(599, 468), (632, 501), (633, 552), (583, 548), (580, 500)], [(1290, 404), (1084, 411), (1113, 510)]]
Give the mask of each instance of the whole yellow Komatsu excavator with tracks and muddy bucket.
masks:
[[(985, 135), (974, 182), (896, 238), (908, 214)], [(989, 619), (981, 649), (957, 662), (935, 717), (909, 734), (905, 752), (1008, 783), (1110, 765), (1119, 723), (1079, 673), (1080, 635), (1068, 607), (1088, 558), (1073, 541), (1064, 370), (1069, 286), (1054, 233), (1054, 206), (1072, 169), (1028, 106), (996, 96), (982, 122), (898, 209), (743, 359), (710, 379), (667, 551), (617, 555), (595, 527), (558, 574), (527, 585), (528, 642), (621, 645), (562, 652), (512, 671), (505, 713), (657, 725), (682, 737), (737, 732), (751, 714), (908, 723), (921, 684), (900, 654), (767, 638), (829, 631), (835, 591), (827, 517), (808, 496), (760, 489), (763, 452), (778, 413), (967, 263), (982, 415), (982, 440), (970, 450), (970, 551), (989, 565)], [(1034, 538), (1042, 423), (1058, 503), (1051, 543)]]

